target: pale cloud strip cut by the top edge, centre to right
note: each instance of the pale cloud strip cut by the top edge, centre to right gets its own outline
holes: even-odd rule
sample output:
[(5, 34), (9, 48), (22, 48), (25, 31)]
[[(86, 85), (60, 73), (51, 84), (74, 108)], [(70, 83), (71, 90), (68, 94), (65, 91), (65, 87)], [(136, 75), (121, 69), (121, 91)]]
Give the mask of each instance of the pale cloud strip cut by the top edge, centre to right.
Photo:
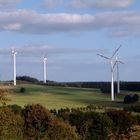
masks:
[(43, 6), (53, 7), (73, 7), (73, 8), (127, 8), (135, 0), (44, 0)]

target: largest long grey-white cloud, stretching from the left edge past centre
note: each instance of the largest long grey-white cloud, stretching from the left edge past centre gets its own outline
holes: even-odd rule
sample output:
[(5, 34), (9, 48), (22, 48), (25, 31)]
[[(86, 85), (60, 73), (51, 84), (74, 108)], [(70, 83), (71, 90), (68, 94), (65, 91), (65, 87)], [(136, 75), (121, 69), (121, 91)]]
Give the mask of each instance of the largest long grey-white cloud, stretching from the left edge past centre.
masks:
[[(94, 16), (91, 15), (39, 14), (28, 10), (0, 12), (0, 30), (14, 31), (15, 29), (17, 32), (31, 34), (88, 30), (93, 21)], [(16, 25), (16, 27), (13, 28), (12, 26), (11, 28), (11, 25)]]

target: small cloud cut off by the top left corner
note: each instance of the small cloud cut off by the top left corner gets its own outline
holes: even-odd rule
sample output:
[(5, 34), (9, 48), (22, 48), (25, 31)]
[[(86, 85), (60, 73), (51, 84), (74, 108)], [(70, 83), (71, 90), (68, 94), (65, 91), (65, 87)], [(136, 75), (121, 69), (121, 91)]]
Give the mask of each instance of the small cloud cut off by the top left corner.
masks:
[(0, 0), (0, 7), (17, 4), (20, 0)]

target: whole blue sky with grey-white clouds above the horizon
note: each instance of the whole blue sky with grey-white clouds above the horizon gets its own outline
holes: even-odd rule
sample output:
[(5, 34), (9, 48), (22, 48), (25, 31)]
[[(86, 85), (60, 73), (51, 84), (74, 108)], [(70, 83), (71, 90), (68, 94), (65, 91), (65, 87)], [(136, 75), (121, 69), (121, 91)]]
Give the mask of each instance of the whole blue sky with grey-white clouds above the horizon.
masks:
[[(17, 76), (54, 81), (109, 81), (116, 56), (120, 80), (140, 81), (139, 0), (0, 0), (0, 80)], [(114, 69), (116, 79), (116, 69)]]

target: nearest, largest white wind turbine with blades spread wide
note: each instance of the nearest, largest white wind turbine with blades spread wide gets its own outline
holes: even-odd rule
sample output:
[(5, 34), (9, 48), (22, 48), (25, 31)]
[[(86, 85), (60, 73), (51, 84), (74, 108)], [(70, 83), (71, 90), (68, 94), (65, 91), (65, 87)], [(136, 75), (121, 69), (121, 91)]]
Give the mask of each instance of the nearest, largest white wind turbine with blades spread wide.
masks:
[(106, 57), (102, 54), (97, 54), (100, 57), (103, 57), (103, 58), (108, 59), (110, 61), (110, 66), (111, 66), (111, 100), (112, 101), (114, 101), (114, 67), (116, 65), (116, 60), (114, 60), (114, 56), (118, 52), (120, 47), (121, 47), (121, 45), (115, 50), (115, 52), (113, 53), (113, 55), (110, 58)]

